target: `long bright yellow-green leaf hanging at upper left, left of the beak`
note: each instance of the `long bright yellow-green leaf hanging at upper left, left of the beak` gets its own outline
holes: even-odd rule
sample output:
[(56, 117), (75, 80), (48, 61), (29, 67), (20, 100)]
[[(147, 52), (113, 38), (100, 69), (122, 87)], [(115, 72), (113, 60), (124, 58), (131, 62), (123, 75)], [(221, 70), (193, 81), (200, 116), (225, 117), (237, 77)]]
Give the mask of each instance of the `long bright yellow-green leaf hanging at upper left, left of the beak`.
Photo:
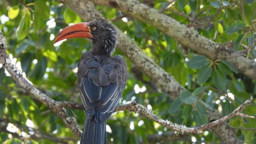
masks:
[(24, 39), (28, 32), (30, 32), (30, 27), (31, 27), (31, 14), (29, 10), (24, 10), (24, 15), (21, 18), (19, 27), (17, 28), (16, 31), (16, 37), (18, 40)]

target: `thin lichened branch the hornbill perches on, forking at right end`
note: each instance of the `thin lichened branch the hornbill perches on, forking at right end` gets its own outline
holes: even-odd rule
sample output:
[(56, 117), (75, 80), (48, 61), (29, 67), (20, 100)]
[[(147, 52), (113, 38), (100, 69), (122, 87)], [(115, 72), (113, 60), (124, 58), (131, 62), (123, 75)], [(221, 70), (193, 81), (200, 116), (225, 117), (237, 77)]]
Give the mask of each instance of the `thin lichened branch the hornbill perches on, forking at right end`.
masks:
[[(171, 130), (179, 131), (181, 133), (199, 134), (199, 133), (202, 133), (203, 130), (212, 128), (216, 125), (224, 123), (225, 121), (228, 121), (230, 118), (232, 118), (234, 116), (255, 118), (253, 116), (248, 116), (245, 114), (241, 115), (241, 113), (240, 113), (243, 109), (245, 109), (245, 107), (247, 105), (249, 105), (251, 103), (252, 100), (253, 100), (253, 98), (250, 97), (248, 100), (245, 101), (245, 103), (238, 106), (237, 109), (235, 109), (229, 115), (219, 118), (216, 121), (213, 121), (211, 123), (201, 125), (200, 127), (196, 127), (196, 128), (187, 128), (187, 127), (185, 127), (185, 125), (176, 124), (176, 123), (172, 123), (168, 120), (161, 119), (160, 117), (158, 117), (157, 115), (154, 114), (154, 111), (148, 110), (145, 106), (138, 104), (136, 101), (132, 101), (129, 104), (118, 105), (117, 108), (115, 109), (115, 111), (124, 111), (124, 110), (133, 111), (133, 112), (138, 113), (139, 116), (147, 117), (147, 118), (151, 119), (152, 121), (159, 123), (162, 126), (169, 128)], [(83, 105), (77, 104), (77, 103), (72, 103), (72, 102), (68, 102), (68, 101), (63, 101), (63, 102), (59, 101), (57, 103), (61, 107), (69, 107), (72, 109), (83, 109)]]

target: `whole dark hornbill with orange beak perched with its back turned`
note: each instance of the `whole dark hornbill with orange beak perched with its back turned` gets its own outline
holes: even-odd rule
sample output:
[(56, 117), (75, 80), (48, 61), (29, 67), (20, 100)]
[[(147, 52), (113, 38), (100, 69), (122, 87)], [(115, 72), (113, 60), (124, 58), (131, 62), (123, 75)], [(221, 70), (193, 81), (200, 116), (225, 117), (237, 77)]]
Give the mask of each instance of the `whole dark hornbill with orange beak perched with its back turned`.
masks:
[(124, 58), (111, 57), (117, 31), (107, 22), (82, 22), (64, 28), (54, 43), (75, 37), (92, 40), (91, 50), (78, 64), (78, 87), (86, 113), (81, 143), (107, 143), (106, 121), (119, 103), (127, 78)]

